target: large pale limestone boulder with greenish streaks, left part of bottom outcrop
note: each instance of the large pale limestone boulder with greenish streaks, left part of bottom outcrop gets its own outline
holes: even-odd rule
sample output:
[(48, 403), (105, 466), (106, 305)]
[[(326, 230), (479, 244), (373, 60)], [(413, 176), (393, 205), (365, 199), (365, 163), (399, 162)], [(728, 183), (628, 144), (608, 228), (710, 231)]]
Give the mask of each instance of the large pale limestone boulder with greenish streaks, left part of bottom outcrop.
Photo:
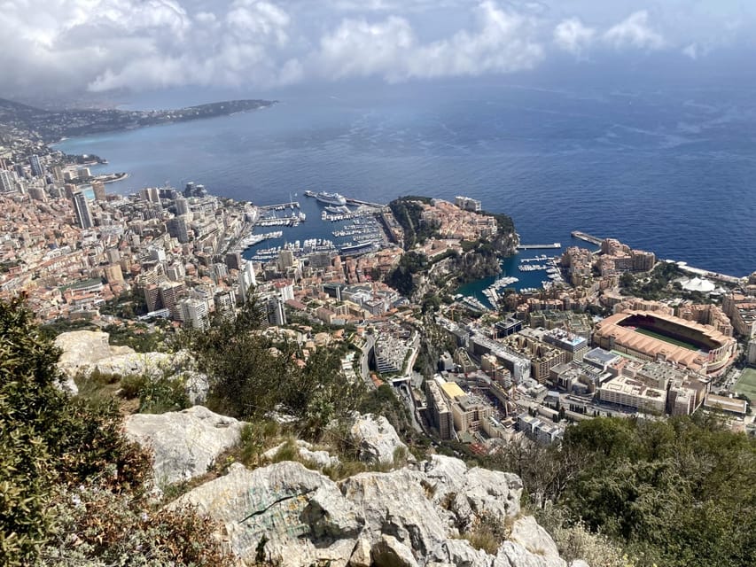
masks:
[(249, 563), (264, 538), (266, 559), (282, 567), (329, 561), (332, 567), (344, 567), (362, 530), (355, 506), (339, 487), (298, 462), (252, 471), (237, 463), (225, 477), (170, 506), (185, 504), (222, 522), (231, 549)]

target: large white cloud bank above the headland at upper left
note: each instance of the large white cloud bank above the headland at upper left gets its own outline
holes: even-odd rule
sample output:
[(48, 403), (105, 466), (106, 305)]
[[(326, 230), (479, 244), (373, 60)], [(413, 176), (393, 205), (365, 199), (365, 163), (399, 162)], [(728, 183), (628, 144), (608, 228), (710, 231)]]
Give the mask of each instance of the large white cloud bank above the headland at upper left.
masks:
[[(38, 17), (37, 17), (38, 16)], [(0, 10), (5, 92), (271, 86), (299, 80), (290, 15), (267, 0), (14, 0)]]

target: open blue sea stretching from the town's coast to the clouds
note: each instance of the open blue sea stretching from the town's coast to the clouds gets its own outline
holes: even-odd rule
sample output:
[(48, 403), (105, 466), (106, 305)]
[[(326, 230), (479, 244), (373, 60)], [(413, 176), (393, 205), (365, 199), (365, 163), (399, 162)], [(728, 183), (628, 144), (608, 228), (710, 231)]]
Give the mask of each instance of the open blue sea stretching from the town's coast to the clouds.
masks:
[[(304, 190), (376, 202), (462, 194), (510, 214), (524, 244), (578, 244), (570, 237), (577, 229), (698, 268), (756, 270), (752, 90), (476, 81), (333, 86), (279, 98), (261, 111), (58, 148), (108, 159), (101, 171), (129, 172), (110, 191), (193, 181), (261, 205), (296, 194), (308, 200), (308, 222), (287, 231), (288, 240), (335, 228), (320, 222)], [(175, 106), (190, 102), (207, 100)]]

